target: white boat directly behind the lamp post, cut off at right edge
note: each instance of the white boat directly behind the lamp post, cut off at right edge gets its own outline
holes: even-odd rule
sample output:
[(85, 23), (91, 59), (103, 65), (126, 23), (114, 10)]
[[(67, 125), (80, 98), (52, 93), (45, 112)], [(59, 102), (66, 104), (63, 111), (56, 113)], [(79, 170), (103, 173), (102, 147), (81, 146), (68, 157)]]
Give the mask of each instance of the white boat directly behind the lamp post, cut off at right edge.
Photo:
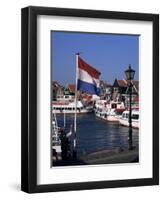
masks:
[[(139, 128), (139, 111), (132, 110), (132, 127)], [(119, 123), (123, 126), (129, 126), (129, 111), (126, 110), (122, 113), (122, 117), (119, 119)]]

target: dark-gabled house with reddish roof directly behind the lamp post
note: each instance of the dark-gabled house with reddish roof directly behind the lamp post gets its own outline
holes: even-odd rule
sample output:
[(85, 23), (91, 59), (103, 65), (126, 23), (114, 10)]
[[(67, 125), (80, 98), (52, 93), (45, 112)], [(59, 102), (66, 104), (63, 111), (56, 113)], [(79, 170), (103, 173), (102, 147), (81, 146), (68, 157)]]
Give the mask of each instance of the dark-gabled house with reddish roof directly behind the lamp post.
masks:
[[(132, 97), (133, 99), (139, 95), (139, 81), (132, 81)], [(127, 80), (117, 80), (115, 79), (112, 86), (112, 100), (114, 101), (123, 101), (128, 104), (129, 101), (129, 91), (128, 91), (128, 82)]]

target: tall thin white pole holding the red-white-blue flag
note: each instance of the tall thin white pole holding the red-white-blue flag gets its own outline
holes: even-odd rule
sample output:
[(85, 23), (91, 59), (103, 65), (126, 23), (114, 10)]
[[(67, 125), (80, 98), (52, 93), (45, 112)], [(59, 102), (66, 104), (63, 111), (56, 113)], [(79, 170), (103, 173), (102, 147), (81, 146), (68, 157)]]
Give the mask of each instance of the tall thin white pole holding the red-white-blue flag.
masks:
[(76, 53), (76, 76), (75, 76), (75, 115), (74, 115), (74, 141), (73, 141), (73, 158), (76, 158), (76, 128), (77, 128), (77, 84), (78, 84), (78, 58), (79, 53)]

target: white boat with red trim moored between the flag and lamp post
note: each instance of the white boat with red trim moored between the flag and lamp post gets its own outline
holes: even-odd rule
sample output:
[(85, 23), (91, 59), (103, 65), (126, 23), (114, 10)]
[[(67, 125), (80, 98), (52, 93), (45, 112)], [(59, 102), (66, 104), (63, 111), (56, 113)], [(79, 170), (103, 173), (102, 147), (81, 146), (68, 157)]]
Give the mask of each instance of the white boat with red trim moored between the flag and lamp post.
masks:
[(109, 122), (119, 122), (124, 110), (123, 102), (98, 100), (95, 104), (95, 115)]

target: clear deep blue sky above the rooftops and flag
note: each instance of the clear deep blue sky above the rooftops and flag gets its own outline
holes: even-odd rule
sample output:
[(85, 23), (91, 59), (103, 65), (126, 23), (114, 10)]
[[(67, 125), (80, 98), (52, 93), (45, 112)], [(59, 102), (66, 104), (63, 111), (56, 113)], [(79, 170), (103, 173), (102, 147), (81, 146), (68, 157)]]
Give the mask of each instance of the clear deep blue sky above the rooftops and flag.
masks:
[(75, 83), (75, 53), (81, 52), (91, 66), (101, 72), (100, 79), (110, 84), (124, 79), (131, 64), (138, 80), (139, 36), (52, 32), (52, 80), (61, 85)]

